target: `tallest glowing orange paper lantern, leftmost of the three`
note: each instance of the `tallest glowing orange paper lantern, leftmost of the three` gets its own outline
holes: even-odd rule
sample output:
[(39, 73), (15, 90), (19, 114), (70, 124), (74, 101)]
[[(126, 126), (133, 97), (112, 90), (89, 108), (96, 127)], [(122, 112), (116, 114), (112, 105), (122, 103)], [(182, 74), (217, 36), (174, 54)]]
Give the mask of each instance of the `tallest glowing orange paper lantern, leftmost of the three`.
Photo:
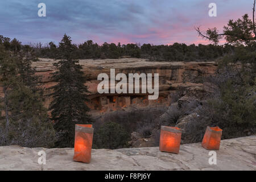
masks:
[(76, 125), (73, 160), (90, 163), (93, 141), (92, 125)]

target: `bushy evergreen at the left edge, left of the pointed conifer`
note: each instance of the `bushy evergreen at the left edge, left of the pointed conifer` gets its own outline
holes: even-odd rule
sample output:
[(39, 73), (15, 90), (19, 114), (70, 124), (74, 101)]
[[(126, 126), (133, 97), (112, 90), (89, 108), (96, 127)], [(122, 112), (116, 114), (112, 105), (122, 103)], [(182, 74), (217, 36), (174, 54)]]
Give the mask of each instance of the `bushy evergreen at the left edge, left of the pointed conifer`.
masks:
[(0, 46), (1, 99), (0, 144), (51, 147), (55, 131), (37, 92), (24, 84), (19, 57)]

